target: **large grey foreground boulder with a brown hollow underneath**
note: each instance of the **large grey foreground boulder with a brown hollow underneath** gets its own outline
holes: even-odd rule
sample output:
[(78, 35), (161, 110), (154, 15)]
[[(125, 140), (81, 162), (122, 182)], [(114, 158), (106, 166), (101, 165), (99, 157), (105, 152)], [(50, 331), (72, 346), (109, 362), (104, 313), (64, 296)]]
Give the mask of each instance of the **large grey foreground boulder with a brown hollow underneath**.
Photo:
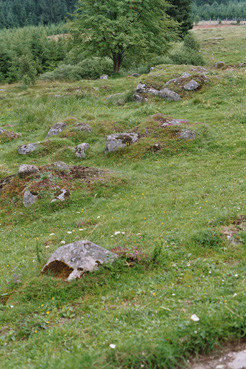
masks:
[(99, 265), (112, 263), (118, 255), (88, 241), (81, 240), (59, 247), (49, 258), (41, 273), (53, 274), (71, 281)]

